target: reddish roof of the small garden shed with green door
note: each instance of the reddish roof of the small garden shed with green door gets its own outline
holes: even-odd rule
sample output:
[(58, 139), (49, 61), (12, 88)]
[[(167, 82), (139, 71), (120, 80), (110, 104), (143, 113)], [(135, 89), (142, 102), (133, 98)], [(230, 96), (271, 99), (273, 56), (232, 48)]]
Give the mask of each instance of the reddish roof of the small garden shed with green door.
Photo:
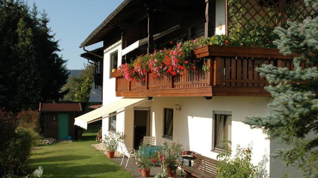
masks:
[(80, 103), (40, 103), (40, 112), (80, 112)]

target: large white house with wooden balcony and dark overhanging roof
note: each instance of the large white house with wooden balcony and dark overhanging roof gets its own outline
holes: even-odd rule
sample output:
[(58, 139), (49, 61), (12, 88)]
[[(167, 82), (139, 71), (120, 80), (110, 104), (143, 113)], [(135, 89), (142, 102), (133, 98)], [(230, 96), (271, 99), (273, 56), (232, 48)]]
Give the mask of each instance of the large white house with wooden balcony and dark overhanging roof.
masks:
[[(268, 6), (284, 14), (282, 0), (242, 2), (251, 9), (245, 14), (251, 22)], [(207, 45), (194, 50), (196, 72), (160, 77), (147, 73), (143, 82), (113, 72), (140, 54), (171, 48), (178, 40), (227, 34), (231, 21), (226, 0), (125, 0), (80, 45), (103, 61), (103, 106), (75, 118), (75, 124), (86, 129), (102, 119), (103, 135), (123, 132), (128, 148), (138, 148), (143, 136), (153, 136), (157, 145), (178, 141), (185, 150), (213, 159), (224, 139), (232, 141), (233, 152), (237, 144), (252, 143), (252, 162), (261, 166), (262, 176), (283, 177), (284, 165), (270, 157), (282, 145), (243, 121), (270, 113), (272, 98), (264, 89), (266, 79), (254, 70), (257, 60), (292, 69), (294, 56), (277, 49)], [(103, 55), (85, 49), (100, 41)], [(202, 70), (204, 61), (208, 72)], [(288, 172), (300, 177), (294, 168)]]

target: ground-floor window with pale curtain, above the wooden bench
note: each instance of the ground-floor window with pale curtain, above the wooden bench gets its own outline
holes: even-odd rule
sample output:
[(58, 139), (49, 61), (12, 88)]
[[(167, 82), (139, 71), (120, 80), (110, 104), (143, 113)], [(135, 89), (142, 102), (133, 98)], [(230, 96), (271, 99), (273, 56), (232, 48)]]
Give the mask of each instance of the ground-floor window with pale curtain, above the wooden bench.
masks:
[(231, 141), (232, 135), (232, 113), (230, 112), (214, 112), (214, 140), (213, 149), (223, 150), (223, 140)]

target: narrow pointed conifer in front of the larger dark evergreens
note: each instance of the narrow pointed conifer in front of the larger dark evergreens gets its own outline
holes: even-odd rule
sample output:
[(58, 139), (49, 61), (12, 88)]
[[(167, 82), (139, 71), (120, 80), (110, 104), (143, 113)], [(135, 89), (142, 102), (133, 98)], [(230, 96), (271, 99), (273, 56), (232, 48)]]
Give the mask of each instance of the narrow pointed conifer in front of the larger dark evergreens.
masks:
[(17, 65), (10, 75), (16, 77), (18, 85), (14, 99), (9, 102), (11, 108), (35, 108), (41, 99), (41, 79), (34, 56), (32, 31), (30, 28), (27, 29), (25, 27), (22, 18), (17, 24), (17, 35), (18, 41), (17, 44), (12, 47), (11, 55), (11, 60), (15, 61)]

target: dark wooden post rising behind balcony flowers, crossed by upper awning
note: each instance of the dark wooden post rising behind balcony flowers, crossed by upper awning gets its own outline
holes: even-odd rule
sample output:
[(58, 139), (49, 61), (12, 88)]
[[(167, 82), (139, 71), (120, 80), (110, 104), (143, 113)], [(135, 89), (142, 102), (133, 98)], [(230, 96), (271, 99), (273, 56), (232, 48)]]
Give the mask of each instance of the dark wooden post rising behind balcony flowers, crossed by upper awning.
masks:
[(147, 53), (154, 52), (154, 6), (152, 3), (146, 4), (148, 10), (148, 49)]

